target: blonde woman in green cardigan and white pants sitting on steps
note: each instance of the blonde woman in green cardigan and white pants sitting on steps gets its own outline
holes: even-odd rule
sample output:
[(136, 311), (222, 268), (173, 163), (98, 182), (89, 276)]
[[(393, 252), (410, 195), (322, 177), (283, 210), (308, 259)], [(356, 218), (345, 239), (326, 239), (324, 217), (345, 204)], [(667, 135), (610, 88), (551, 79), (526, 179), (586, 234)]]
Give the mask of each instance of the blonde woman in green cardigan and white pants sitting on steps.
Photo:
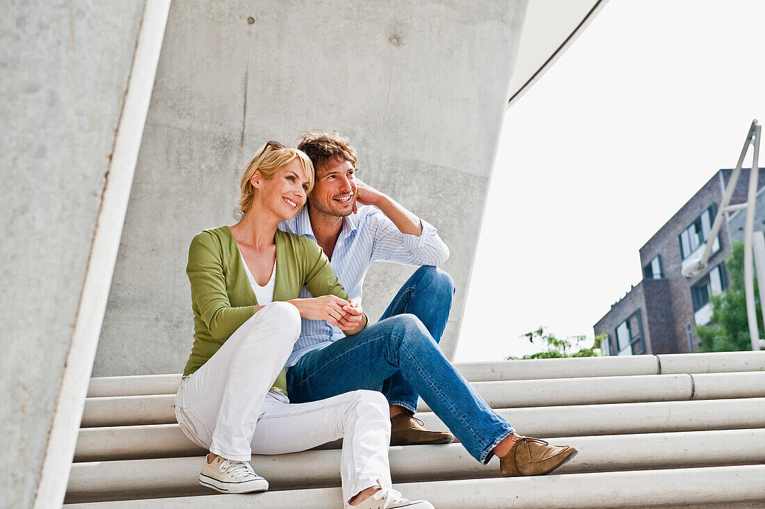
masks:
[[(253, 452), (297, 452), (344, 437), (345, 507), (432, 509), (390, 488), (390, 423), (381, 393), (289, 403), (284, 365), (301, 317), (327, 320), (346, 334), (366, 327), (366, 315), (348, 302), (321, 248), (276, 229), (305, 204), (313, 178), (308, 156), (268, 142), (245, 169), (242, 220), (192, 240), (186, 272), (194, 347), (175, 399), (177, 421), (210, 451), (200, 483), (214, 490), (267, 490), (248, 463)], [(298, 299), (303, 286), (321, 296)]]

